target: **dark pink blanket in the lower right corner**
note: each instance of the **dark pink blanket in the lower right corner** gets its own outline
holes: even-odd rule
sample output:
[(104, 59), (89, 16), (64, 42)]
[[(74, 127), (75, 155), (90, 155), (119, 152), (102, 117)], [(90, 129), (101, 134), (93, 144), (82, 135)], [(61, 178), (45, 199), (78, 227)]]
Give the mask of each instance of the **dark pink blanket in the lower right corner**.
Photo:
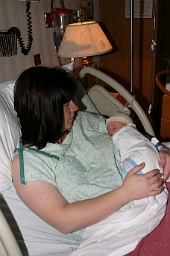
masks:
[[(170, 192), (170, 182), (166, 183)], [(144, 237), (133, 252), (126, 256), (168, 256), (170, 255), (170, 201), (168, 201), (166, 216), (160, 225)]]

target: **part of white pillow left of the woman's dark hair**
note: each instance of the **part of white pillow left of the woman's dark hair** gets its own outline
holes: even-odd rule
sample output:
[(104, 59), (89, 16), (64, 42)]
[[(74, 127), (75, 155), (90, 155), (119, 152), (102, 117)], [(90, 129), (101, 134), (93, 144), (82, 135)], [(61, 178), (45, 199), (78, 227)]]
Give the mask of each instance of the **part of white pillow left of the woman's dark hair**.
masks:
[(0, 91), (0, 193), (11, 186), (10, 170), (13, 150), (20, 137), (19, 120), (13, 109), (13, 87), (7, 85)]

